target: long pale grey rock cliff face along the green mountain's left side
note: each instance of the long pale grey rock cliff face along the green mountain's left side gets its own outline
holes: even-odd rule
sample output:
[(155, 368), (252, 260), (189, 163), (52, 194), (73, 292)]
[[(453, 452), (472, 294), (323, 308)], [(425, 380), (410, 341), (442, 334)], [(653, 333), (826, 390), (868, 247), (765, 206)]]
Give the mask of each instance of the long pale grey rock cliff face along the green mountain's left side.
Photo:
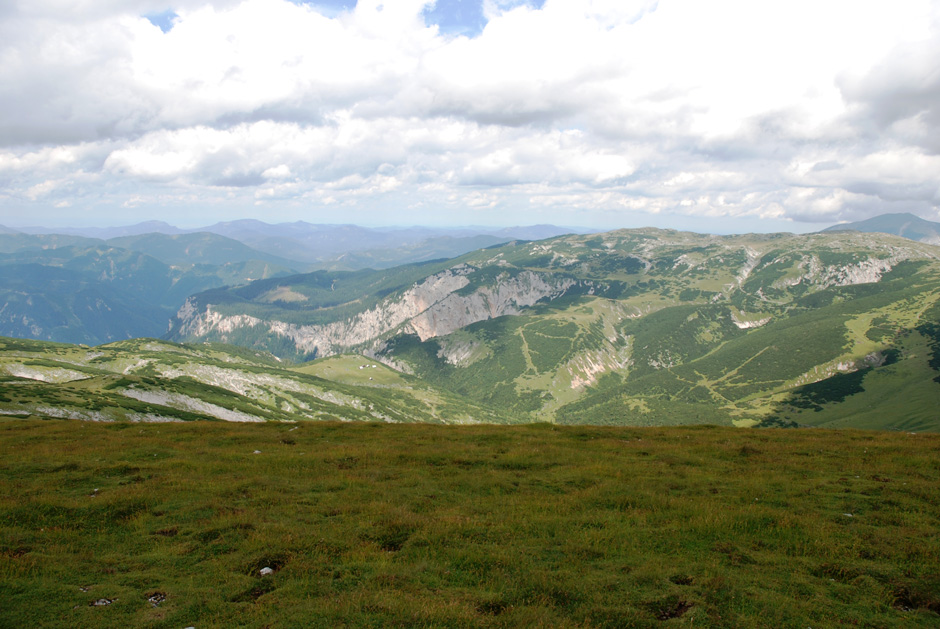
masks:
[(177, 313), (176, 334), (183, 338), (218, 338), (245, 328), (289, 339), (298, 352), (328, 356), (362, 348), (392, 332), (413, 333), (424, 341), (464, 326), (507, 314), (518, 314), (542, 299), (563, 295), (577, 282), (532, 271), (499, 274), (466, 292), (477, 268), (458, 265), (432, 275), (398, 296), (353, 317), (325, 325), (297, 325), (244, 314), (224, 315), (212, 304), (199, 310), (188, 299)]

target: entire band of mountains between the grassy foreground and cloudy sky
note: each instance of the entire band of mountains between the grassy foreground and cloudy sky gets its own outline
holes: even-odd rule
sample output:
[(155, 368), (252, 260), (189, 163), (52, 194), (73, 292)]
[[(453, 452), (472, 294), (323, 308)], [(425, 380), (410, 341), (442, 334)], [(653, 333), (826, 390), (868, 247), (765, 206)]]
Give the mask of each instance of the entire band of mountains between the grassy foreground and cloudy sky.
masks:
[[(940, 429), (940, 248), (885, 233), (618, 230), (305, 273), (205, 233), (80, 238), (0, 237), (0, 325), (10, 326), (0, 334), (54, 330), (41, 338), (58, 340), (84, 326), (77, 342), (166, 340), (108, 345), (120, 358), (100, 360), (100, 348), (8, 341), (6, 381), (31, 391), (17, 413), (77, 413), (35, 402), (65, 387), (83, 392), (69, 394), (73, 404), (100, 398), (111, 415), (129, 390), (178, 390), (189, 402), (144, 415), (182, 419), (195, 416), (181, 408), (205, 404), (267, 419), (367, 418), (371, 405), (388, 421)], [(180, 356), (188, 367), (173, 366)], [(368, 361), (362, 374), (357, 361)], [(250, 365), (220, 375), (237, 362)], [(86, 376), (53, 387), (29, 376), (34, 367)], [(314, 405), (290, 394), (299, 385), (271, 385), (272, 369), (291, 370), (291, 382), (315, 375), (348, 412), (304, 415)], [(369, 380), (333, 378), (343, 370)], [(375, 393), (379, 374), (397, 374), (394, 408)], [(115, 398), (117, 376), (139, 380)], [(146, 403), (165, 406), (154, 395)]]

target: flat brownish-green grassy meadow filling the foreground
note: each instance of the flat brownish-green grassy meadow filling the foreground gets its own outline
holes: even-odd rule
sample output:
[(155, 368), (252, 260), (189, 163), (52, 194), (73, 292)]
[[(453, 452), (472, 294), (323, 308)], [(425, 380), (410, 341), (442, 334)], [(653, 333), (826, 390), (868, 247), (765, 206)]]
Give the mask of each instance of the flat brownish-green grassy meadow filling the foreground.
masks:
[(0, 446), (2, 626), (940, 622), (940, 435), (6, 419)]

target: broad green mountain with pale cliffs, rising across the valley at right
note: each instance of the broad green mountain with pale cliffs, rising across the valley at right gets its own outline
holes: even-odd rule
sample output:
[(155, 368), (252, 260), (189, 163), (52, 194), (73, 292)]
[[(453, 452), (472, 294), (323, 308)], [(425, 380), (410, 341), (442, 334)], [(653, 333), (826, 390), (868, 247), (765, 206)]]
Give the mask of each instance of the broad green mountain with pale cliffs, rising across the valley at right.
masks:
[(374, 355), (565, 423), (844, 425), (841, 405), (866, 396), (826, 393), (808, 414), (801, 387), (861, 373), (873, 391), (903, 382), (920, 401), (885, 413), (884, 396), (867, 396), (878, 410), (866, 425), (938, 429), (938, 260), (880, 234), (623, 230), (203, 293), (172, 334), (285, 357)]

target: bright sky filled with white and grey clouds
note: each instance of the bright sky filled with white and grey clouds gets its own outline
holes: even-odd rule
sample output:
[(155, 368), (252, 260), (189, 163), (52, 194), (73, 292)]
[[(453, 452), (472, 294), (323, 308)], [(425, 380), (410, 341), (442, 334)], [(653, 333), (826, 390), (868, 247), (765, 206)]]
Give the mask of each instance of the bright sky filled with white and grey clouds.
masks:
[(940, 220), (937, 0), (4, 0), (0, 224)]

